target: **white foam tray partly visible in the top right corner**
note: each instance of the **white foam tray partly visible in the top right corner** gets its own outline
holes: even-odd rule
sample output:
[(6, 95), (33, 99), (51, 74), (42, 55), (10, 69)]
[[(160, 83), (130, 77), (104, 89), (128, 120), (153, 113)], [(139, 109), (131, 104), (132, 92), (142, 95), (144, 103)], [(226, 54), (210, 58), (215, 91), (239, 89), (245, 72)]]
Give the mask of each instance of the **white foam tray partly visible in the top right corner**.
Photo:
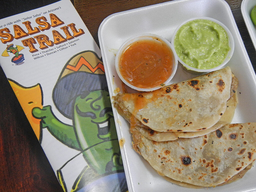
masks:
[(253, 46), (256, 49), (256, 28), (253, 25), (250, 17), (252, 8), (255, 5), (256, 5), (256, 0), (243, 0), (241, 4), (241, 12), (242, 12), (246, 27), (249, 31), (250, 37), (252, 39)]

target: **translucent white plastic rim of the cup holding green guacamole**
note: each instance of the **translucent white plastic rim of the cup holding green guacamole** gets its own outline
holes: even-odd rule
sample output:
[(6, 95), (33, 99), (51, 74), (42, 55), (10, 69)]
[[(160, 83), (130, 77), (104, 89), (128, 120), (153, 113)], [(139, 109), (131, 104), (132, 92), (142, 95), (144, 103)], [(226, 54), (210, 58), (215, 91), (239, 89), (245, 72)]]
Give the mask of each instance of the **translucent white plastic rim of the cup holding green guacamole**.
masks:
[(196, 71), (196, 72), (211, 72), (211, 71), (216, 71), (218, 69), (221, 69), (223, 68), (223, 66), (225, 66), (227, 64), (227, 62), (231, 59), (232, 55), (233, 55), (233, 52), (234, 52), (234, 39), (233, 39), (233, 36), (230, 32), (230, 30), (228, 29), (228, 27), (226, 27), (226, 25), (224, 25), (223, 23), (221, 23), (219, 20), (217, 19), (214, 19), (214, 18), (211, 18), (211, 17), (195, 17), (195, 18), (190, 18), (186, 21), (184, 21), (182, 24), (180, 24), (180, 26), (178, 26), (176, 28), (176, 30), (174, 31), (174, 35), (172, 37), (172, 45), (174, 46), (174, 39), (175, 39), (175, 36), (176, 36), (176, 33), (177, 31), (180, 29), (180, 27), (182, 27), (183, 25), (185, 25), (186, 23), (190, 22), (190, 21), (193, 21), (193, 20), (197, 20), (197, 19), (204, 19), (204, 20), (210, 20), (210, 21), (213, 21), (217, 24), (219, 24), (221, 27), (223, 27), (225, 29), (225, 31), (227, 32), (227, 36), (228, 36), (228, 44), (229, 44), (229, 47), (230, 47), (230, 50), (228, 51), (228, 54), (225, 58), (225, 60), (220, 64), (218, 65), (217, 67), (214, 67), (214, 68), (211, 68), (211, 69), (198, 69), (198, 68), (194, 68), (194, 67), (191, 67), (189, 65), (187, 65), (184, 61), (182, 61), (179, 56), (178, 56), (178, 60), (179, 62), (186, 68), (188, 69), (189, 71), (191, 70), (192, 72), (193, 71)]

